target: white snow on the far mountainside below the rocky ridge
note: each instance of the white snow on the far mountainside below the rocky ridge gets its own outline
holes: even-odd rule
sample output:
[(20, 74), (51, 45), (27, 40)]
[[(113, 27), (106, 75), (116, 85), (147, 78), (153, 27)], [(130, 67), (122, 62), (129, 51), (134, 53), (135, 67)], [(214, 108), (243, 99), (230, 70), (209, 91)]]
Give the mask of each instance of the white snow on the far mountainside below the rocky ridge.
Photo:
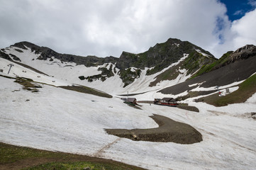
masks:
[[(32, 52), (32, 50), (29, 47), (26, 47), (27, 50), (24, 50), (19, 47), (8, 47), (5, 49), (6, 54), (10, 55), (10, 57), (13, 59), (13, 56), (18, 57), (23, 64), (27, 64), (30, 67), (38, 69), (40, 72), (43, 72), (45, 74), (48, 74), (50, 77), (55, 77), (56, 79), (60, 79), (61, 81), (66, 82), (66, 84), (81, 84), (84, 86), (89, 86), (94, 89), (100, 89), (101, 91), (105, 91), (108, 94), (116, 95), (116, 94), (126, 94), (127, 91), (129, 93), (143, 93), (146, 91), (152, 91), (152, 90), (159, 90), (166, 86), (172, 86), (174, 84), (180, 83), (185, 81), (187, 78), (189, 78), (190, 75), (187, 75), (186, 70), (182, 70), (180, 72), (179, 76), (172, 80), (172, 81), (161, 81), (157, 84), (157, 86), (150, 87), (150, 82), (154, 81), (155, 77), (157, 75), (161, 74), (162, 72), (165, 72), (165, 70), (174, 67), (175, 65), (179, 64), (179, 62), (184, 61), (188, 55), (184, 54), (184, 57), (182, 57), (178, 62), (175, 62), (171, 64), (169, 67), (162, 70), (162, 72), (157, 72), (156, 74), (152, 74), (150, 76), (146, 75), (148, 69), (152, 68), (145, 68), (141, 70), (140, 78), (135, 79), (135, 81), (123, 88), (123, 82), (122, 79), (120, 79), (120, 75), (118, 75), (118, 69), (115, 68), (115, 64), (113, 64), (112, 69), (116, 69), (116, 72), (113, 70), (113, 77), (109, 77), (106, 79), (106, 81), (101, 81), (100, 79), (97, 79), (96, 81), (89, 82), (87, 80), (81, 80), (79, 79), (79, 76), (83, 75), (84, 77), (93, 76), (95, 74), (101, 74), (101, 71), (99, 71), (99, 68), (106, 67), (111, 63), (106, 63), (103, 65), (99, 65), (98, 67), (86, 67), (84, 65), (77, 65), (74, 62), (62, 62), (55, 57), (52, 57), (48, 60), (37, 60), (37, 58), (40, 56), (40, 54), (35, 53), (35, 51)], [(109, 69), (109, 68), (108, 68)]]

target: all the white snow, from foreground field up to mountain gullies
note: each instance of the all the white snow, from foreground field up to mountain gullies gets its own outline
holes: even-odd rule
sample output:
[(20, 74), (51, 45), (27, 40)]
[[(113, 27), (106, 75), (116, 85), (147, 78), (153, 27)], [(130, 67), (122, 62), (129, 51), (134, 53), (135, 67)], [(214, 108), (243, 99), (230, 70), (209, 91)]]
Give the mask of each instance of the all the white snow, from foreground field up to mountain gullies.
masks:
[[(112, 70), (113, 77), (108, 77), (104, 82), (82, 81), (78, 78), (81, 75), (86, 77), (100, 74), (100, 67), (111, 69), (110, 63), (85, 67), (74, 62), (62, 62), (55, 57), (37, 60), (40, 54), (31, 52), (28, 47), (27, 50), (8, 47), (4, 52), (13, 60), (16, 59), (16, 62), (0, 57), (0, 69), (3, 71), (0, 72), (0, 142), (87, 154), (146, 169), (255, 169), (256, 167), (256, 94), (248, 98), (245, 103), (218, 108), (206, 103), (195, 103), (193, 101), (195, 98), (188, 98), (185, 102), (189, 103), (189, 106), (199, 108), (199, 113), (143, 103), (141, 109), (135, 109), (118, 98), (117, 94), (126, 94), (127, 91), (129, 94), (137, 94), (135, 97), (141, 101), (170, 97), (170, 94), (157, 93), (158, 90), (168, 86), (169, 89), (186, 86), (191, 88), (192, 92), (212, 91), (215, 86), (212, 86), (211, 82), (208, 82), (208, 86), (203, 86), (204, 81), (185, 82), (190, 74), (187, 74), (187, 69), (179, 68), (179, 64), (184, 62), (188, 55), (184, 55), (178, 62), (155, 74), (146, 75), (147, 70), (152, 68), (142, 69), (140, 77), (123, 88), (118, 69), (116, 72)], [(15, 56), (21, 60), (21, 63), (47, 75), (17, 64), (18, 60)], [(13, 64), (13, 67), (9, 72), (10, 64)], [(115, 65), (113, 64), (112, 69)], [(156, 86), (150, 86), (157, 76), (172, 67), (178, 67), (178, 76), (175, 79), (165, 79), (157, 82)], [(23, 89), (21, 84), (13, 82), (15, 79), (6, 77), (33, 79), (42, 88), (32, 93)], [(240, 79), (236, 84), (230, 81), (220, 89), (232, 87), (230, 92), (233, 92), (238, 89), (238, 84), (242, 81), (243, 79)], [(73, 84), (91, 86), (117, 96), (102, 98), (58, 88)], [(177, 93), (177, 96), (185, 96), (188, 91), (182, 89), (181, 93)], [(173, 95), (177, 97), (176, 94)], [(149, 117), (152, 114), (164, 115), (193, 126), (201, 133), (203, 141), (193, 145), (142, 142), (108, 135), (104, 130), (157, 128), (157, 123)]]

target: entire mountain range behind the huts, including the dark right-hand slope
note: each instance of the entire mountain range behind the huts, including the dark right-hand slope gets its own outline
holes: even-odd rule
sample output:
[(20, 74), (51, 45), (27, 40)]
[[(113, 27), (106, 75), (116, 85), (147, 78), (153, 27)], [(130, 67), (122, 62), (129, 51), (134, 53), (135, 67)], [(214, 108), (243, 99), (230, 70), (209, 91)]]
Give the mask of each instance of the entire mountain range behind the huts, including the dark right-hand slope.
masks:
[(60, 54), (30, 42), (1, 49), (0, 56), (67, 84), (81, 84), (112, 95), (157, 91), (152, 97), (186, 100), (216, 94), (216, 86), (222, 91), (238, 86), (256, 72), (255, 51), (255, 45), (245, 45), (216, 59), (190, 42), (169, 38), (148, 51), (123, 52), (120, 57)]

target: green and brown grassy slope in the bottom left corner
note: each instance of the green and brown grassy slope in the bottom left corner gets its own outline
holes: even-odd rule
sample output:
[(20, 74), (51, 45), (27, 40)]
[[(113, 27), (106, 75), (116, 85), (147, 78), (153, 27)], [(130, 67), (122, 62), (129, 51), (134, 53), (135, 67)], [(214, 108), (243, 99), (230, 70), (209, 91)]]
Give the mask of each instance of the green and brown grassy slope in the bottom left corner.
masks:
[(141, 169), (109, 159), (16, 147), (0, 142), (0, 169)]

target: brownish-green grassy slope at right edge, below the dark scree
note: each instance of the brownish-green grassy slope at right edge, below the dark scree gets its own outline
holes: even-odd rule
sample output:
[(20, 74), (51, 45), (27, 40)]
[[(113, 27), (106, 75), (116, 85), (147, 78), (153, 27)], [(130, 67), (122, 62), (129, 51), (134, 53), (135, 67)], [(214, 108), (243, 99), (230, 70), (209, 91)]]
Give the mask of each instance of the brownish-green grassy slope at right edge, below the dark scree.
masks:
[(243, 81), (243, 83), (239, 85), (239, 89), (231, 94), (222, 97), (219, 97), (218, 94), (213, 94), (211, 96), (199, 98), (198, 101), (204, 101), (213, 106), (227, 106), (232, 103), (243, 103), (255, 93), (256, 74)]

